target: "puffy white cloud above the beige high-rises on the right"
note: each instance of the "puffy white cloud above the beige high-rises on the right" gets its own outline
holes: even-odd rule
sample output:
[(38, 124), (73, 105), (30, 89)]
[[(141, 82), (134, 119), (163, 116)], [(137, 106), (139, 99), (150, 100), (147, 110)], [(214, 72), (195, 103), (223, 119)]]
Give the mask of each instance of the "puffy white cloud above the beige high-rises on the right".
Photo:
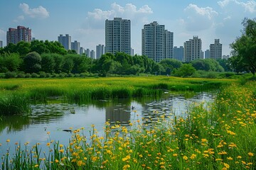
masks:
[(218, 16), (218, 12), (214, 11), (213, 8), (200, 8), (196, 4), (189, 4), (184, 12), (187, 17), (183, 18), (183, 24), (186, 26), (186, 30), (191, 31), (211, 28), (214, 26), (215, 16)]

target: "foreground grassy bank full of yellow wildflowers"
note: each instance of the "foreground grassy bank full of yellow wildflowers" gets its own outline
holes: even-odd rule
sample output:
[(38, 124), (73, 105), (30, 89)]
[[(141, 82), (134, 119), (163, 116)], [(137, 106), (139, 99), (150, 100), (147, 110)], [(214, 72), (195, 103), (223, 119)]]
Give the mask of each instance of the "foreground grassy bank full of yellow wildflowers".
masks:
[(40, 143), (16, 144), (1, 169), (255, 169), (256, 83), (222, 86), (215, 101), (204, 104), (186, 118), (162, 116), (150, 127), (139, 120), (129, 127), (106, 123), (99, 136), (92, 125), (90, 137), (84, 128), (71, 129), (69, 145), (50, 141), (47, 152)]

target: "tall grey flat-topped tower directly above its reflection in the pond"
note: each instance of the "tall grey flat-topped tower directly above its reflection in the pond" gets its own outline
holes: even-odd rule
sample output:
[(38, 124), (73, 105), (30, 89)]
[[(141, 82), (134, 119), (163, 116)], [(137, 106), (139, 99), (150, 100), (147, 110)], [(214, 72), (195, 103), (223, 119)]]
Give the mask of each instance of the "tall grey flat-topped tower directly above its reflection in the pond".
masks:
[(122, 18), (105, 22), (105, 52), (131, 55), (131, 21)]

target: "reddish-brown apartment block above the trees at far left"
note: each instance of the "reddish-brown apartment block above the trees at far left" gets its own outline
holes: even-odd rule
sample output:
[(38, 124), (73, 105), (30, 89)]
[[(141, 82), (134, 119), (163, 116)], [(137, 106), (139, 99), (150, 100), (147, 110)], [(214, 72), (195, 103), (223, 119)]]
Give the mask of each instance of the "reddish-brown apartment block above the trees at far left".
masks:
[(20, 41), (31, 42), (31, 29), (24, 26), (9, 28), (6, 32), (6, 44), (17, 44)]

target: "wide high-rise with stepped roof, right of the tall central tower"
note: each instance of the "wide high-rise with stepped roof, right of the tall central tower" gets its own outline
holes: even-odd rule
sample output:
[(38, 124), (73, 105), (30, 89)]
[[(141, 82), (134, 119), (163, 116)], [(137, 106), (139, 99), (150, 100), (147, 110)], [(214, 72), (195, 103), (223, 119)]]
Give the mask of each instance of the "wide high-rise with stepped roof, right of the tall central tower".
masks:
[(142, 55), (155, 62), (174, 57), (174, 33), (165, 30), (156, 21), (144, 25), (142, 29)]

